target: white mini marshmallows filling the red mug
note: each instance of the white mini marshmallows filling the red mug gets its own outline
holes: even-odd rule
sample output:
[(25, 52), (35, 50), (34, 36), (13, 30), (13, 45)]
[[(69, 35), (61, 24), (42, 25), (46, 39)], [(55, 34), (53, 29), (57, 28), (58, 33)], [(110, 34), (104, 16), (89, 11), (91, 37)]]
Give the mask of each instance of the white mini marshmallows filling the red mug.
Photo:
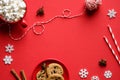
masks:
[(8, 23), (20, 21), (25, 12), (24, 0), (0, 0), (0, 17)]

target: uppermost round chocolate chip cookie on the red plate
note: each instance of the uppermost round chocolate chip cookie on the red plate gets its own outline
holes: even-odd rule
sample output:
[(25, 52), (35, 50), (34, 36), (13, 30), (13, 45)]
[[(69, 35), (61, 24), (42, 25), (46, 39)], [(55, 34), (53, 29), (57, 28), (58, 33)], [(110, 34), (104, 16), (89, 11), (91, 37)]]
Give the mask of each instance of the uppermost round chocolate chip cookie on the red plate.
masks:
[(47, 75), (52, 75), (52, 74), (60, 74), (62, 75), (63, 72), (63, 68), (61, 65), (57, 64), (57, 63), (51, 63), (48, 65), (47, 67)]

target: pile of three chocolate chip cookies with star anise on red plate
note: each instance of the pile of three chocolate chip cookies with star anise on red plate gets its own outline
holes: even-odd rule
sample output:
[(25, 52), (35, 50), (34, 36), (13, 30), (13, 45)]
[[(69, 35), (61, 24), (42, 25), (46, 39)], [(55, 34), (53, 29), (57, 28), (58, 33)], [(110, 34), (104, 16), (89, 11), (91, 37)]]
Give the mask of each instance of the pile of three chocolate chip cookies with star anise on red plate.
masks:
[(42, 69), (37, 73), (37, 80), (64, 80), (63, 68), (58, 63), (50, 63), (48, 66), (44, 63)]

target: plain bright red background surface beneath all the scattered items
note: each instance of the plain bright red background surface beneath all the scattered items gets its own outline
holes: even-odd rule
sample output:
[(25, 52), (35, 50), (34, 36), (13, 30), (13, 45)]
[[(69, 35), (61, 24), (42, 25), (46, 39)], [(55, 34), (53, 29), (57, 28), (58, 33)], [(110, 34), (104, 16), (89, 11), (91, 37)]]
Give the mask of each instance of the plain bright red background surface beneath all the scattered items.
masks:
[[(84, 0), (25, 0), (27, 13), (25, 20), (28, 27), (36, 21), (46, 21), (64, 9), (70, 9), (72, 15), (78, 14), (84, 9)], [(61, 61), (68, 69), (70, 80), (80, 80), (78, 72), (81, 68), (87, 68), (88, 78), (98, 75), (101, 80), (105, 70), (111, 70), (111, 80), (120, 79), (120, 66), (113, 57), (111, 51), (103, 40), (106, 35), (116, 51), (112, 38), (108, 32), (107, 25), (112, 26), (115, 37), (120, 44), (120, 1), (103, 0), (100, 9), (92, 16), (86, 14), (74, 19), (55, 19), (46, 24), (42, 35), (35, 35), (32, 30), (20, 41), (13, 41), (8, 36), (8, 29), (0, 27), (0, 79), (15, 80), (10, 74), (14, 68), (17, 73), (24, 69), (27, 79), (31, 80), (35, 67), (43, 60), (49, 58)], [(36, 10), (44, 6), (44, 17), (36, 17)], [(109, 9), (117, 11), (115, 19), (109, 19)], [(27, 28), (28, 28), (27, 27)], [(26, 29), (15, 26), (13, 35), (25, 32)], [(15, 51), (11, 54), (5, 52), (7, 44), (14, 45)], [(11, 65), (5, 65), (3, 58), (11, 55), (14, 59)], [(119, 55), (119, 54), (118, 54)], [(102, 58), (107, 60), (107, 66), (101, 68), (98, 61)]]

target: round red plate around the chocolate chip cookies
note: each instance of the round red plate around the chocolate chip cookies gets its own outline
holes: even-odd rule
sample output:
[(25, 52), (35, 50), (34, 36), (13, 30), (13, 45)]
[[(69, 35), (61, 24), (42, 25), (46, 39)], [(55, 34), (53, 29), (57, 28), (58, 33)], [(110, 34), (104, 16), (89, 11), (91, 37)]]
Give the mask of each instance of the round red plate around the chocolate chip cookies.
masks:
[(46, 65), (48, 65), (50, 63), (60, 64), (63, 67), (63, 70), (64, 70), (64, 74), (63, 74), (64, 80), (69, 80), (69, 73), (68, 73), (68, 70), (65, 67), (65, 65), (63, 63), (61, 63), (60, 61), (53, 60), (53, 59), (48, 59), (48, 60), (42, 61), (40, 64), (38, 64), (37, 67), (33, 71), (32, 80), (37, 80), (36, 79), (36, 74), (37, 74), (38, 71), (41, 70), (41, 66), (42, 66), (43, 63), (46, 63)]

